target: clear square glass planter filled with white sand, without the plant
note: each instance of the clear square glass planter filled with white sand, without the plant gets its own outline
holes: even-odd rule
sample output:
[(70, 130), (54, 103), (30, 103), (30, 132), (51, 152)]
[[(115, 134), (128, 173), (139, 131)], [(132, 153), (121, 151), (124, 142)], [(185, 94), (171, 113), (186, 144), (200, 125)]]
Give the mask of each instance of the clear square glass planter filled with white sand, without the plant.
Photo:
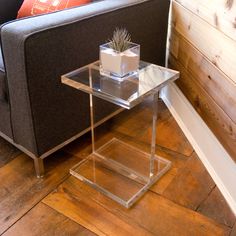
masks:
[(139, 67), (140, 45), (130, 43), (130, 47), (118, 52), (110, 48), (110, 43), (100, 46), (100, 73), (118, 81), (122, 81)]

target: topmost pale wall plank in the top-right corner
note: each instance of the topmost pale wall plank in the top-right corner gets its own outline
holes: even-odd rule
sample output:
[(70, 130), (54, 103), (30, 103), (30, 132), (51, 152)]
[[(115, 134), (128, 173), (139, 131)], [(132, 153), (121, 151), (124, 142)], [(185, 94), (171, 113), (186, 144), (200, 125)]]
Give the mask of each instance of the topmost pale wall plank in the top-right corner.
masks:
[(236, 40), (236, 3), (233, 0), (176, 0), (227, 36)]

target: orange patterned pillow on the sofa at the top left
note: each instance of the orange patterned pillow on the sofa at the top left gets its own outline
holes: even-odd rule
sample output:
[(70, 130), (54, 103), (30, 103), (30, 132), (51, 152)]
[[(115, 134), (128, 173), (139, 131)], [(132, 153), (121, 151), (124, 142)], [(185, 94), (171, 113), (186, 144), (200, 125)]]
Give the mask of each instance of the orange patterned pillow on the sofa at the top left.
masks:
[(17, 18), (45, 14), (90, 2), (91, 0), (24, 0)]

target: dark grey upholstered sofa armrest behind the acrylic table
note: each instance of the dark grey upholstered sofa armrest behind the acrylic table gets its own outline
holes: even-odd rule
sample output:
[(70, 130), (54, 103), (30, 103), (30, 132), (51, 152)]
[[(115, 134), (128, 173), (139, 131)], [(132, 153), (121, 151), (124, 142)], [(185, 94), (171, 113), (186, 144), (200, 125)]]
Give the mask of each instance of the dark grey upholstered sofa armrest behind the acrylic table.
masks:
[(163, 65), (168, 10), (168, 0), (105, 0), (5, 24), (14, 141), (40, 156), (89, 127), (88, 95), (62, 85), (60, 76), (97, 60), (116, 27), (141, 45), (142, 60)]

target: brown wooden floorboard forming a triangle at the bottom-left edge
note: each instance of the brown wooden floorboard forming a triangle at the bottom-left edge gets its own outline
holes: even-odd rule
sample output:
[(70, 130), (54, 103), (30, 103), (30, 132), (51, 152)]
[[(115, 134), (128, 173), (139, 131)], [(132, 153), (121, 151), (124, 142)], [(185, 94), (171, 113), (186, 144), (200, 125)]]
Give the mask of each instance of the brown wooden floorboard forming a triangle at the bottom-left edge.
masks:
[(13, 225), (3, 236), (95, 236), (94, 233), (43, 203)]

